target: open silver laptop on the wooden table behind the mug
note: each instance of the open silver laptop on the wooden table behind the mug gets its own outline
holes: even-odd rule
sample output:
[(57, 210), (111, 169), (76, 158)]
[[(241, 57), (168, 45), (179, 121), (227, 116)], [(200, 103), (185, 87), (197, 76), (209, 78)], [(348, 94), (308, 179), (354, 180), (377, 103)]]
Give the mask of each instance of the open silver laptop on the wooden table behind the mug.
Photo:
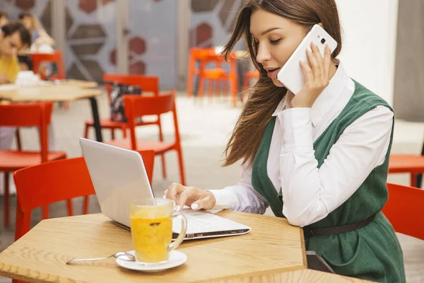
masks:
[[(89, 139), (80, 138), (80, 145), (102, 214), (117, 225), (129, 229), (130, 202), (155, 197), (148, 181), (143, 158), (136, 151)], [(187, 218), (185, 239), (233, 236), (251, 230), (248, 226), (209, 212), (184, 208), (182, 214)], [(172, 230), (178, 233), (179, 225), (180, 221), (175, 219)], [(172, 238), (177, 238), (177, 233), (173, 233)]]

